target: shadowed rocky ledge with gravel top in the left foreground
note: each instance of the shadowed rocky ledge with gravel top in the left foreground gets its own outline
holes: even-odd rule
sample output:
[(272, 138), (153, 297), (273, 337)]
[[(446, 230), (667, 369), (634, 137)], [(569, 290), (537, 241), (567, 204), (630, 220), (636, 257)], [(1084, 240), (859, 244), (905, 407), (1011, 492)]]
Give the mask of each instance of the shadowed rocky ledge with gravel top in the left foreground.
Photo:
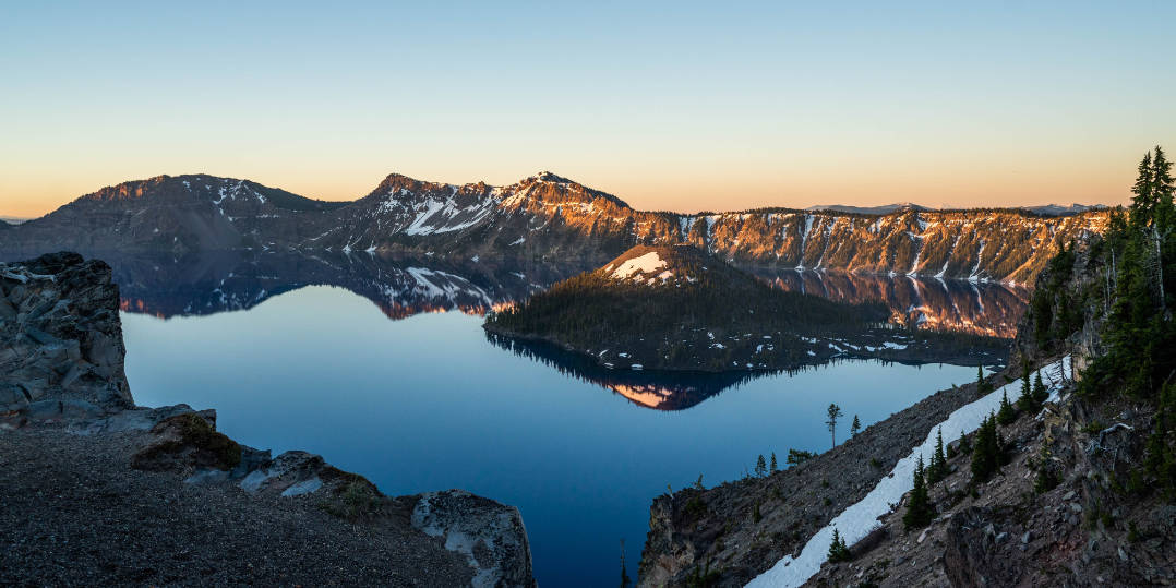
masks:
[(0, 263), (0, 583), (535, 586), (514, 507), (134, 406), (118, 309), (101, 261)]

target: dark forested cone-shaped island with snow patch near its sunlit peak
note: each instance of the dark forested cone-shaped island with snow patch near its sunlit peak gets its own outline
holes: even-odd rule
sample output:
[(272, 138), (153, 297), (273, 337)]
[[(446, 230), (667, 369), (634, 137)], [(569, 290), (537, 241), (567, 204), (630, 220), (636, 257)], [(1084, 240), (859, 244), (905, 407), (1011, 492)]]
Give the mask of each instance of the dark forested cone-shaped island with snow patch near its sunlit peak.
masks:
[(834, 358), (1001, 360), (1004, 343), (997, 340), (895, 328), (888, 316), (881, 302), (774, 288), (691, 246), (636, 246), (492, 313), (485, 328), (616, 369), (787, 369)]

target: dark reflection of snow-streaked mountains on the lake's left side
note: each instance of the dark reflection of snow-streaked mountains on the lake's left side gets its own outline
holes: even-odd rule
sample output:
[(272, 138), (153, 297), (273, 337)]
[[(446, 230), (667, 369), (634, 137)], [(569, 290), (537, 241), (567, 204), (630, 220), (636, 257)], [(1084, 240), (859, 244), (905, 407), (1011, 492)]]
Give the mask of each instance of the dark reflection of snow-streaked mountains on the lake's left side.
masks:
[(586, 269), (529, 260), (443, 260), (369, 254), (212, 252), (99, 254), (114, 269), (122, 309), (159, 318), (243, 310), (306, 286), (346, 288), (386, 316), (461, 312), (483, 315)]

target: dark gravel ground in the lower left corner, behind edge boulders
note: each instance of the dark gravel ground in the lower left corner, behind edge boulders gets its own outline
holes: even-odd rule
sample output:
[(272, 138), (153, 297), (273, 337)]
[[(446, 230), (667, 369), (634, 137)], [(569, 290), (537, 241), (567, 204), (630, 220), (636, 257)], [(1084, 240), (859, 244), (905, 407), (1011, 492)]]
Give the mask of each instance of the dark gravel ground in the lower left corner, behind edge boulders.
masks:
[(314, 494), (249, 494), (143, 472), (155, 435), (0, 434), (0, 584), (466, 586), (473, 570), (412, 527), (414, 500), (335, 516)]

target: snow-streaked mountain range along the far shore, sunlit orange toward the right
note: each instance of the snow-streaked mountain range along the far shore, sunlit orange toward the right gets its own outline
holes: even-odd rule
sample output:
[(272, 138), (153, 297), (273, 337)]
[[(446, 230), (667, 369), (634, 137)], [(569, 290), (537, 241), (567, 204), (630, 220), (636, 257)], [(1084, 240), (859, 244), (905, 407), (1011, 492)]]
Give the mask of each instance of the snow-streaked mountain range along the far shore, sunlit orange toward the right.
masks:
[[(834, 208), (834, 207), (827, 207)], [(102, 188), (0, 230), (0, 253), (285, 249), (447, 258), (560, 258), (599, 263), (634, 245), (689, 243), (740, 265), (1024, 283), (1057, 242), (1101, 233), (1103, 209), (884, 213), (762, 208), (637, 211), (549, 172), (509, 186), (388, 175), (350, 202), (249, 180), (160, 175)]]

